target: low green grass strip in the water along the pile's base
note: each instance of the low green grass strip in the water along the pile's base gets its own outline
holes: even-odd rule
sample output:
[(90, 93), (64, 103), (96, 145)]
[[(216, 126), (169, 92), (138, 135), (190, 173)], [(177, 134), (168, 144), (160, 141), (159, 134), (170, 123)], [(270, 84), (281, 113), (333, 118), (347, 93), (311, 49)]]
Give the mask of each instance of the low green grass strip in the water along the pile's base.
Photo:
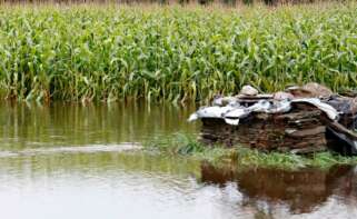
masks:
[(335, 165), (357, 165), (356, 157), (344, 157), (330, 151), (303, 156), (288, 152), (267, 153), (239, 146), (230, 149), (221, 146), (207, 147), (198, 142), (194, 137), (182, 133), (176, 133), (163, 139), (153, 139), (147, 142), (145, 148), (149, 151), (158, 151), (166, 155), (191, 156), (218, 166), (228, 162), (240, 168), (299, 169), (317, 167), (325, 169)]

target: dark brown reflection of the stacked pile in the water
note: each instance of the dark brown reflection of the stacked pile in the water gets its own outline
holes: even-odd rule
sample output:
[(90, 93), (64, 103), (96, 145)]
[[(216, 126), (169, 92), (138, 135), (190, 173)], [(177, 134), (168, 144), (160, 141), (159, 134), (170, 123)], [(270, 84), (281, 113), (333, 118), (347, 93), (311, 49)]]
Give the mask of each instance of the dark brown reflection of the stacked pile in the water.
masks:
[(286, 206), (292, 215), (311, 213), (329, 199), (343, 201), (357, 213), (357, 172), (351, 166), (335, 166), (328, 170), (239, 170), (237, 167), (215, 168), (202, 162), (201, 181), (220, 187), (235, 183), (245, 199), (241, 206), (250, 206), (259, 212), (265, 206), (265, 216), (271, 215), (274, 206), (280, 209)]

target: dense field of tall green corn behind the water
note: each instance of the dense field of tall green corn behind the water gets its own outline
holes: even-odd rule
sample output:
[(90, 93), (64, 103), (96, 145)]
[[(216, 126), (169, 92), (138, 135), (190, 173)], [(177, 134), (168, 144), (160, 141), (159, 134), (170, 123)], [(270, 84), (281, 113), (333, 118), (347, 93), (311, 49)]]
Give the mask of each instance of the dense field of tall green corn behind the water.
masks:
[(18, 100), (207, 100), (357, 79), (357, 4), (0, 8), (0, 90)]

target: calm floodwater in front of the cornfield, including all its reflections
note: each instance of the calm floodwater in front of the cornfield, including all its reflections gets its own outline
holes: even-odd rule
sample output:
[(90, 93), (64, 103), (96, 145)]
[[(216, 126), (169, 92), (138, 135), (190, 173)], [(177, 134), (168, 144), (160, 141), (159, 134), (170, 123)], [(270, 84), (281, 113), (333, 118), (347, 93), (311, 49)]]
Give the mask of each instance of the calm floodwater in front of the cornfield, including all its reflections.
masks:
[(0, 104), (0, 218), (356, 218), (357, 169), (215, 168), (149, 155), (194, 107)]

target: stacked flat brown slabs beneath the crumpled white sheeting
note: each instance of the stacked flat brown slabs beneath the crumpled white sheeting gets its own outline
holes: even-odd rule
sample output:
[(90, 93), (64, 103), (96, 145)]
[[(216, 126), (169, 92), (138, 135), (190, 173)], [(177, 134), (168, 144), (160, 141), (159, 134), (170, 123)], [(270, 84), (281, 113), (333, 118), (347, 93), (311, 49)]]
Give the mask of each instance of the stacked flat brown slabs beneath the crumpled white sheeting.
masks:
[[(201, 138), (205, 143), (219, 142), (227, 147), (244, 145), (268, 151), (297, 149), (297, 152), (310, 152), (315, 146), (320, 151), (326, 150), (326, 127), (320, 122), (320, 116), (316, 110), (308, 113), (252, 113), (237, 127), (222, 119), (202, 119)], [(294, 131), (287, 133), (286, 130)]]

